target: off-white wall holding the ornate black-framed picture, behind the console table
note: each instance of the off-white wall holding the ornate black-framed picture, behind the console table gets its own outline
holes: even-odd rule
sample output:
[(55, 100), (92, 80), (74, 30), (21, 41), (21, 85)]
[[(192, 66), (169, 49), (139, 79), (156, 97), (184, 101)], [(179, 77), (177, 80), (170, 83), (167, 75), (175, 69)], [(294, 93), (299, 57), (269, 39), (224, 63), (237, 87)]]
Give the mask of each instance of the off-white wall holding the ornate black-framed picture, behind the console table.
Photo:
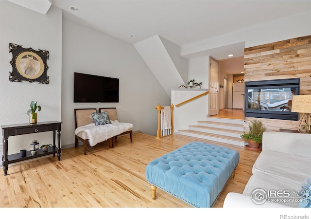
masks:
[[(38, 122), (60, 121), (62, 10), (52, 6), (47, 15), (43, 15), (1, 0), (0, 39), (0, 125), (29, 124), (27, 110), (30, 109), (32, 100), (42, 107), (38, 112)], [(9, 72), (12, 72), (9, 43), (49, 51), (47, 75), (50, 84), (9, 81)], [(40, 144), (52, 144), (52, 132), (10, 137), (9, 154), (18, 153), (21, 149), (29, 150), (32, 140), (37, 140)]]

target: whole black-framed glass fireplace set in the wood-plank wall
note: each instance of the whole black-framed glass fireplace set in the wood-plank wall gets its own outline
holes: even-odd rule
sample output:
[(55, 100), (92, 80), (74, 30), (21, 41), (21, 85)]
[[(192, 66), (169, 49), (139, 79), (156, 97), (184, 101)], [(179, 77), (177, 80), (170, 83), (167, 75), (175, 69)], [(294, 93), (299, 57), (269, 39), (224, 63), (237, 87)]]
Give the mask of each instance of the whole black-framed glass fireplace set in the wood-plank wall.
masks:
[(298, 121), (291, 106), (299, 94), (300, 78), (245, 82), (245, 117)]

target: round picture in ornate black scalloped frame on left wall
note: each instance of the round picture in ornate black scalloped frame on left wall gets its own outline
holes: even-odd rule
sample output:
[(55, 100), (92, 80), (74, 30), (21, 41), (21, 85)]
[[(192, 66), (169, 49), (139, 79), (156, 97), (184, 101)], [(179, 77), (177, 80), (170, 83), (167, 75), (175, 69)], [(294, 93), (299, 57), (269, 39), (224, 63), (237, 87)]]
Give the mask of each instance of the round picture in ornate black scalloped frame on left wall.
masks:
[(14, 43), (9, 43), (9, 49), (13, 55), (10, 61), (13, 68), (9, 76), (10, 81), (22, 82), (22, 80), (26, 80), (31, 83), (38, 81), (39, 84), (50, 83), (49, 76), (47, 76), (49, 51), (26, 49)]

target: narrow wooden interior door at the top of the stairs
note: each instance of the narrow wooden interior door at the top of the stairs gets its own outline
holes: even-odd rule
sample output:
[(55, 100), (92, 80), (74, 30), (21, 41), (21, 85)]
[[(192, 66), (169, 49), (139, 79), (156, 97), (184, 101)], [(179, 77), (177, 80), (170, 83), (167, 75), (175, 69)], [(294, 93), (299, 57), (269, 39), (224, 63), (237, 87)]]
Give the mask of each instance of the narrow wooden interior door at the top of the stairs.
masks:
[(218, 114), (218, 78), (219, 78), (219, 63), (210, 58), (209, 69), (209, 115)]

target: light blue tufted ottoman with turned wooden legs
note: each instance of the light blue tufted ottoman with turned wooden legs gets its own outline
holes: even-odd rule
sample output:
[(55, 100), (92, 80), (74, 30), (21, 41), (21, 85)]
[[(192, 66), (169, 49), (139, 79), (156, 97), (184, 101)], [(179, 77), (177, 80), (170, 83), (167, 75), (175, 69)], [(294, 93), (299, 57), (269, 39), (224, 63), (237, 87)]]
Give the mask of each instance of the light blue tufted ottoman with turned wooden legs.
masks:
[(158, 187), (194, 207), (211, 207), (239, 163), (236, 150), (191, 142), (146, 167), (151, 196)]

